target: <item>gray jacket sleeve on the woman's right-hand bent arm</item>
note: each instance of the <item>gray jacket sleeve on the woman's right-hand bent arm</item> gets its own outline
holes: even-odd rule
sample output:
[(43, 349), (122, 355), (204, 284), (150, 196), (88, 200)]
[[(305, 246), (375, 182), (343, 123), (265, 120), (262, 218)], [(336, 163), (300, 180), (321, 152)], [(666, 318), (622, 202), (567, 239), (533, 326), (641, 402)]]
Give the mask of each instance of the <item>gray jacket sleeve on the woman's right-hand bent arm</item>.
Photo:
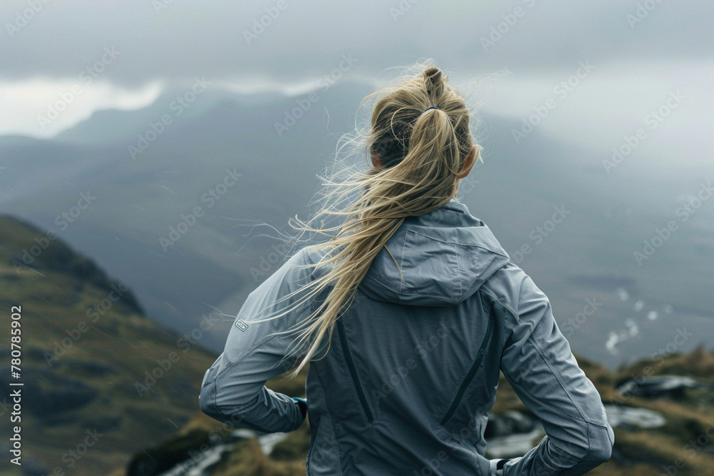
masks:
[(610, 460), (615, 435), (598, 390), (558, 330), (548, 298), (519, 271), (519, 298), (510, 315), (513, 322), (506, 325), (512, 332), (501, 370), (543, 422), (546, 436), (526, 455), (506, 463), (503, 475), (584, 475)]

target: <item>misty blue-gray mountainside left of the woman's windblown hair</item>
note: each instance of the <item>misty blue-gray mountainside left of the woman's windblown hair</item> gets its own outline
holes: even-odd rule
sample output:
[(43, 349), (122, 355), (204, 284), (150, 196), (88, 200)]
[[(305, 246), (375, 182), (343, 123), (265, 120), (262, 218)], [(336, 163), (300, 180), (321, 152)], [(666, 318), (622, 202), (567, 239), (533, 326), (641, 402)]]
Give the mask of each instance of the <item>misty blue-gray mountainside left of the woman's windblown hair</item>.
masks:
[[(284, 227), (301, 213), (286, 203), (307, 203), (318, 179), (300, 158), (320, 164), (332, 146), (313, 118), (276, 141), (270, 118), (283, 116), (281, 96), (258, 107), (209, 89), (179, 115), (171, 104), (183, 92), (166, 92), (139, 111), (97, 111), (50, 140), (0, 138), (0, 208), (56, 231), (124, 276), (151, 319), (186, 331), (211, 306), (223, 310), (226, 298), (250, 292), (250, 268), (259, 263), (247, 257), (266, 245), (251, 226)], [(258, 111), (264, 123), (255, 120)], [(166, 114), (171, 123), (132, 158), (130, 146), (153, 138), (151, 124)], [(94, 199), (79, 210), (83, 193)], [(201, 216), (193, 216), (196, 207)], [(66, 220), (69, 211), (76, 216)], [(187, 223), (186, 233), (173, 234)], [(267, 226), (258, 232), (271, 233)], [(218, 333), (206, 340), (214, 349), (223, 344)]]

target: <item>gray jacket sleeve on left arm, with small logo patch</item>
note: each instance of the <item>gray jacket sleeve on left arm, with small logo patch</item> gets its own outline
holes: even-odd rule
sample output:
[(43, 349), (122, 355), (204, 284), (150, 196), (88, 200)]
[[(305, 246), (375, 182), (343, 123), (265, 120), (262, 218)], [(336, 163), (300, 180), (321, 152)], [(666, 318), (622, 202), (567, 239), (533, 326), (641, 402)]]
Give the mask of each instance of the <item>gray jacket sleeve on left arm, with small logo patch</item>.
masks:
[(296, 296), (290, 294), (309, 279), (310, 270), (296, 266), (303, 264), (304, 256), (305, 250), (293, 255), (248, 295), (231, 325), (223, 353), (203, 376), (198, 398), (206, 415), (259, 432), (290, 432), (301, 426), (305, 417), (298, 402), (266, 388), (265, 383), (295, 367), (285, 357), (297, 334), (274, 333), (288, 330), (306, 318), (310, 303), (261, 323), (251, 319), (261, 319), (268, 311), (293, 305)]

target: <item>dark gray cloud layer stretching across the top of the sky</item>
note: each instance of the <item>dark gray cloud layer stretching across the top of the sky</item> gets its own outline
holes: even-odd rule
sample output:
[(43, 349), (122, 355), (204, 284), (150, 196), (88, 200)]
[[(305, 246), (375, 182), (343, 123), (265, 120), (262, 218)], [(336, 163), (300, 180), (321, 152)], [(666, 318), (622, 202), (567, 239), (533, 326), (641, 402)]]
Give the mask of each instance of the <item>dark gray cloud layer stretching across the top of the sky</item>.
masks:
[[(152, 6), (164, 3), (158, 10)], [(638, 4), (650, 3), (654, 8), (630, 27), (627, 15), (636, 14)], [(703, 2), (461, 1), (448, 7), (426, 0), (107, 0), (101, 8), (79, 0), (41, 4), (41, 10), (11, 34), (8, 25), (18, 22), (28, 2), (2, 2), (2, 79), (72, 77), (106, 47), (122, 51), (106, 78), (134, 88), (156, 79), (187, 81), (196, 75), (305, 81), (324, 74), (349, 52), (361, 58), (364, 74), (423, 57), (475, 74), (504, 66), (516, 71), (557, 69), (583, 57), (598, 63), (710, 58), (714, 51), (707, 20), (714, 16), (714, 4)], [(489, 38), (497, 40), (484, 51), (483, 39)]]

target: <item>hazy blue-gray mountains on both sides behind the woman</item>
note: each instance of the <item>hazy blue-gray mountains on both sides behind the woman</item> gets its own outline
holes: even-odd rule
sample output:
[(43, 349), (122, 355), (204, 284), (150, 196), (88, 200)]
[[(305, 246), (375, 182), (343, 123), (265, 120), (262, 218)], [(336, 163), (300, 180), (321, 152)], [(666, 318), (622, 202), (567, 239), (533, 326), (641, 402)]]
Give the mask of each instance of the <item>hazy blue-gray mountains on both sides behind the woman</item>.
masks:
[[(0, 209), (121, 277), (163, 325), (188, 332), (224, 313), (201, 343), (218, 352), (231, 316), (283, 260), (271, 237), (306, 217), (370, 90), (341, 81), (313, 96), (246, 96), (199, 78), (51, 139), (2, 136)], [(524, 120), (479, 117), (483, 164), (458, 196), (548, 295), (574, 350), (612, 368), (712, 345), (710, 172), (634, 158), (608, 170), (612, 151), (538, 126), (516, 142)]]

